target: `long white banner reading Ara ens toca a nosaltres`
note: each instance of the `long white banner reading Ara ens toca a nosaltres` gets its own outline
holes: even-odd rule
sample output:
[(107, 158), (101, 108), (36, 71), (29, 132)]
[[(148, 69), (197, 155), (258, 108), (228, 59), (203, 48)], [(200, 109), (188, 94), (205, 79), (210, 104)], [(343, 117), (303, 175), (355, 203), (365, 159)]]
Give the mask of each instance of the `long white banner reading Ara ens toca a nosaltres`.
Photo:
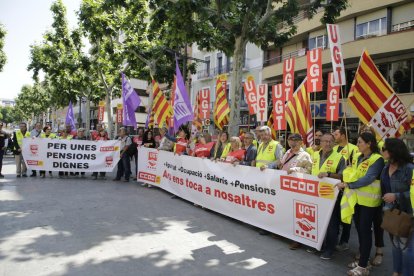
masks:
[(339, 180), (260, 171), (140, 148), (138, 180), (226, 216), (320, 249)]

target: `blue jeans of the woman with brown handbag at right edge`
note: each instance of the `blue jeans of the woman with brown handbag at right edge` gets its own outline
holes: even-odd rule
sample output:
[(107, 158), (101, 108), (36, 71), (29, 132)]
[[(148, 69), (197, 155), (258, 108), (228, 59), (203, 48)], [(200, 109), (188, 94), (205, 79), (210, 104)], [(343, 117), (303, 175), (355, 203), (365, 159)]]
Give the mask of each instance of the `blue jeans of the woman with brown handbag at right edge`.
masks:
[(404, 251), (401, 248), (404, 247), (405, 242), (401, 243), (400, 238), (394, 237), (394, 243), (398, 247), (392, 247), (394, 272), (401, 273), (403, 276), (414, 275), (414, 235), (411, 236), (410, 241), (408, 241), (408, 246)]

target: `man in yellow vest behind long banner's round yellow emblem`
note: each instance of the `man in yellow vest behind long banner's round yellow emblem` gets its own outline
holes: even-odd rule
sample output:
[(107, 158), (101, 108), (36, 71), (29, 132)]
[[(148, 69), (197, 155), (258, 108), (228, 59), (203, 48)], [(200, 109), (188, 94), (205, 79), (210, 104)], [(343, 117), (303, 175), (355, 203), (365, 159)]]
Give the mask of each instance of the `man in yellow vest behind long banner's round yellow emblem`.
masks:
[[(319, 178), (331, 177), (342, 179), (342, 172), (346, 168), (345, 159), (342, 155), (333, 150), (335, 138), (330, 133), (322, 135), (320, 144), (321, 150), (315, 152), (312, 156), (312, 175)], [(325, 247), (321, 259), (330, 260), (332, 258), (335, 246), (338, 240), (339, 226), (341, 224), (341, 198), (342, 191), (338, 195), (334, 210), (332, 211), (331, 220), (325, 237)]]

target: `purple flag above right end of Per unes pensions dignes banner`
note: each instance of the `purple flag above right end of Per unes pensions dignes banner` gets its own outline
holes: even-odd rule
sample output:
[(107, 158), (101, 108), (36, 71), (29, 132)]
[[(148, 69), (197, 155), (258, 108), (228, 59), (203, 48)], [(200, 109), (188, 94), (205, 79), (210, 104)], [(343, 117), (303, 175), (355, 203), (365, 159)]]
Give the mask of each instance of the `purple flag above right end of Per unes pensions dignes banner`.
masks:
[(124, 110), (122, 124), (124, 126), (133, 126), (136, 129), (135, 110), (141, 104), (141, 98), (132, 88), (124, 73), (122, 73), (122, 104)]

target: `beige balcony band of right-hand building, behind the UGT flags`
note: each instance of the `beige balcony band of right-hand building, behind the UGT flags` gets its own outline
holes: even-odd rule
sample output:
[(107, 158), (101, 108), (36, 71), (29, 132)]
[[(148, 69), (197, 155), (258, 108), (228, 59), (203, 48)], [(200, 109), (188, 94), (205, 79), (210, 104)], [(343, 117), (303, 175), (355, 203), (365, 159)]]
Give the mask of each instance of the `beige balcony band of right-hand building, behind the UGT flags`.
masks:
[[(407, 34), (410, 32), (411, 34)], [(396, 43), (397, 42), (397, 43)], [(404, 32), (393, 32), (389, 35), (369, 37), (342, 44), (342, 52), (345, 64), (349, 61), (358, 62), (363, 49), (371, 55), (381, 55), (382, 57), (393, 55), (392, 53), (409, 53), (412, 52), (414, 45), (414, 28), (407, 29)], [(347, 62), (348, 61), (348, 62)], [(329, 49), (322, 51), (322, 63), (329, 66), (331, 63), (331, 54)], [(295, 60), (295, 72), (306, 70), (306, 55), (297, 56)], [(283, 63), (275, 62), (263, 68), (263, 79), (274, 79), (283, 74)]]

